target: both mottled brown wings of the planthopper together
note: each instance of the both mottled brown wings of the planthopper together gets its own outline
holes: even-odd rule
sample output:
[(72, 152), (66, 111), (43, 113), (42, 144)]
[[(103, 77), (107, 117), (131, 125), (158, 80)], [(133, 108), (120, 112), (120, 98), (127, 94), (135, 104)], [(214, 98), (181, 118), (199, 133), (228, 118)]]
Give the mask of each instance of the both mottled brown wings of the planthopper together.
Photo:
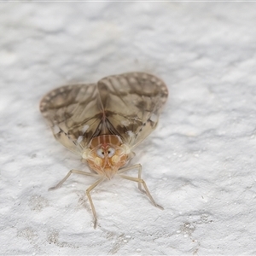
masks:
[(153, 75), (124, 73), (52, 90), (40, 110), (56, 140), (81, 154), (103, 134), (118, 135), (134, 148), (154, 130), (167, 96), (166, 84)]

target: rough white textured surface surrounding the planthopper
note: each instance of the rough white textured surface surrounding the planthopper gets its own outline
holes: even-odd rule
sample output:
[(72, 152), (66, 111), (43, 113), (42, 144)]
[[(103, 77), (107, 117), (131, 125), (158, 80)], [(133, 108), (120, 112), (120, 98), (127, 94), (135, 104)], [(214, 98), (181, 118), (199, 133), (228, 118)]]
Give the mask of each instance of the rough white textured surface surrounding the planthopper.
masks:
[[(0, 3), (3, 255), (255, 255), (256, 3)], [(160, 211), (121, 179), (92, 193), (38, 111), (62, 84), (131, 71), (166, 81), (133, 163)]]

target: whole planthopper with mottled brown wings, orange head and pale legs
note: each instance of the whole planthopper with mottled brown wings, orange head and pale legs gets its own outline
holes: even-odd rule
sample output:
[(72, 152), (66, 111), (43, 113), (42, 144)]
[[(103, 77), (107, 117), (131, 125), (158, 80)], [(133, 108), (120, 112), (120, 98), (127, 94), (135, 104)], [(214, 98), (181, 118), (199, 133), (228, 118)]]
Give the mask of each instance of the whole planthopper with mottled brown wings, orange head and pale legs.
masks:
[[(40, 110), (55, 139), (79, 154), (90, 172), (71, 170), (72, 174), (96, 177), (86, 195), (97, 224), (96, 209), (90, 191), (106, 179), (119, 175), (138, 183), (154, 207), (160, 207), (142, 179), (142, 166), (126, 166), (135, 155), (133, 149), (158, 123), (168, 96), (166, 84), (148, 73), (124, 73), (108, 76), (97, 84), (67, 85), (51, 90), (40, 102)], [(124, 173), (136, 169), (137, 177)]]

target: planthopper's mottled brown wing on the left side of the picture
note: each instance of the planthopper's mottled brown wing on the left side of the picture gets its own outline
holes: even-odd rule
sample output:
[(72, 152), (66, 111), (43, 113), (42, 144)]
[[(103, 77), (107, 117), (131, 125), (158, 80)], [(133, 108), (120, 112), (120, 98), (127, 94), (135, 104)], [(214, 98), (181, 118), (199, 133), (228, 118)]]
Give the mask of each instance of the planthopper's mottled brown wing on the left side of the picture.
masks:
[(96, 84), (52, 90), (40, 102), (40, 110), (56, 140), (76, 154), (99, 133), (102, 104)]

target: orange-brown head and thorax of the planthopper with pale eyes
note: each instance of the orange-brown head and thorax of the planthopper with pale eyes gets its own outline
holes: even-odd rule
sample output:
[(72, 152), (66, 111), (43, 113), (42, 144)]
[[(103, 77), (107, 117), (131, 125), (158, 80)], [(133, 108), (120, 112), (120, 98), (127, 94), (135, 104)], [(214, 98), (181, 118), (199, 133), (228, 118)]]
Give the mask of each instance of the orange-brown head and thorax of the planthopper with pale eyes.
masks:
[(127, 149), (119, 137), (102, 135), (91, 140), (90, 148), (84, 151), (83, 158), (92, 170), (111, 178), (120, 167), (125, 166), (129, 156)]

